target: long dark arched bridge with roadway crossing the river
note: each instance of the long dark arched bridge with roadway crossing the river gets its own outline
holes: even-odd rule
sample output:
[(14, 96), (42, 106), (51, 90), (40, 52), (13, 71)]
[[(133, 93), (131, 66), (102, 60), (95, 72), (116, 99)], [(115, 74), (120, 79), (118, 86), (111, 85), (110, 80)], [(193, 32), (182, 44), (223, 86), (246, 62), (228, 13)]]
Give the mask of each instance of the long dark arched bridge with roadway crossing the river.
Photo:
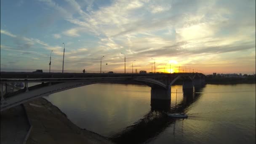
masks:
[[(48, 96), (95, 83), (140, 83), (151, 87), (151, 99), (171, 100), (171, 85), (183, 80), (183, 89), (201, 87), (205, 83), (202, 73), (173, 74), (99, 74), (99, 73), (33, 73), (0, 72), (0, 110), (14, 107), (32, 99)], [(24, 88), (9, 92), (12, 83), (24, 83)], [(31, 83), (40, 83), (29, 86)], [(5, 87), (5, 90), (4, 88)]]

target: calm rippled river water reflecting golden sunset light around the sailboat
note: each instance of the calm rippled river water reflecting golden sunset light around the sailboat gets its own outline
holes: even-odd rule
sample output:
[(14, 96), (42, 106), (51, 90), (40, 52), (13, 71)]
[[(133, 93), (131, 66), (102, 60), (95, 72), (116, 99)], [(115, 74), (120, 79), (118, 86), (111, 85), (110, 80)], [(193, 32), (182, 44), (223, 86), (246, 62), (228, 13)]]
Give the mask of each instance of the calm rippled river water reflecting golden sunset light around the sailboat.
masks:
[[(45, 98), (80, 128), (120, 144), (255, 144), (255, 84), (207, 84), (192, 91), (173, 85), (171, 102), (152, 101), (150, 90), (144, 85), (94, 84)], [(189, 117), (173, 119), (163, 112)]]

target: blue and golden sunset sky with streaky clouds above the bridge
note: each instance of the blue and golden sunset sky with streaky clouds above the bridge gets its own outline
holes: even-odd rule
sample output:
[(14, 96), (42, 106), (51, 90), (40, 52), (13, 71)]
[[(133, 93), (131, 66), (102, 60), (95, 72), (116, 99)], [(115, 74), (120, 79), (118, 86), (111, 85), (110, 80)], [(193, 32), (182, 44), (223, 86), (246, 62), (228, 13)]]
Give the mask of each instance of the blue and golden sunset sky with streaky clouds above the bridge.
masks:
[[(1, 0), (0, 67), (255, 73), (255, 0)], [(122, 53), (125, 53), (122, 54)], [(136, 61), (134, 61), (136, 60)], [(107, 63), (107, 65), (106, 65)]]

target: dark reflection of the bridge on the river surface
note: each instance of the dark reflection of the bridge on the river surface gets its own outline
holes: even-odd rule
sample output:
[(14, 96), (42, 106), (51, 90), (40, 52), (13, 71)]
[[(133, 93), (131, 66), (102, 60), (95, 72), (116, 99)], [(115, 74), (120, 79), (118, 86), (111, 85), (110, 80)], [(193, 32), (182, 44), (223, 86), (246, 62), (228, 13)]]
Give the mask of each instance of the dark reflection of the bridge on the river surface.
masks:
[[(197, 88), (193, 92), (184, 90), (183, 101), (176, 106), (177, 112), (184, 112), (197, 101), (201, 96), (202, 88)], [(149, 142), (160, 133), (165, 131), (176, 119), (168, 117), (163, 112), (172, 112), (170, 100), (151, 100), (150, 111), (133, 125), (124, 128), (122, 131), (109, 136), (109, 138), (118, 144), (138, 144)]]

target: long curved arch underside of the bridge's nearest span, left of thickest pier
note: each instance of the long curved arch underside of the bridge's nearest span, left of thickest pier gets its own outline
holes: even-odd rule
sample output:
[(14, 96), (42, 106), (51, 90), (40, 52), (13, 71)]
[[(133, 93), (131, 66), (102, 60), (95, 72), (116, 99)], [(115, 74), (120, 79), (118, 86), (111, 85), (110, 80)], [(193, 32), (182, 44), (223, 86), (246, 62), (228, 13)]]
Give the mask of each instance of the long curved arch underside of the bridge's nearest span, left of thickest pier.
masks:
[[(114, 80), (114, 81), (126, 81), (128, 79), (119, 79), (119, 80)], [(139, 79), (129, 79), (131, 82), (139, 82), (144, 85), (148, 85), (149, 87), (151, 86), (156, 86), (166, 88), (165, 84), (154, 80), (152, 78), (139, 78)], [(8, 96), (5, 98), (3, 101), (1, 101), (1, 111), (14, 107), (16, 105), (22, 104), (27, 101), (31, 101), (33, 99), (37, 99), (43, 96), (48, 96), (53, 93), (58, 93), (61, 91), (66, 91), (72, 88), (78, 88), (81, 86), (85, 85), (92, 85), (96, 83), (102, 83), (102, 82), (110, 82), (111, 80), (87, 80), (87, 81), (71, 81), (71, 82), (48, 82), (48, 83), (42, 83), (39, 85), (35, 85), (32, 87), (24, 88), (19, 91), (16, 91), (14, 93), (10, 93), (12, 96)]]

